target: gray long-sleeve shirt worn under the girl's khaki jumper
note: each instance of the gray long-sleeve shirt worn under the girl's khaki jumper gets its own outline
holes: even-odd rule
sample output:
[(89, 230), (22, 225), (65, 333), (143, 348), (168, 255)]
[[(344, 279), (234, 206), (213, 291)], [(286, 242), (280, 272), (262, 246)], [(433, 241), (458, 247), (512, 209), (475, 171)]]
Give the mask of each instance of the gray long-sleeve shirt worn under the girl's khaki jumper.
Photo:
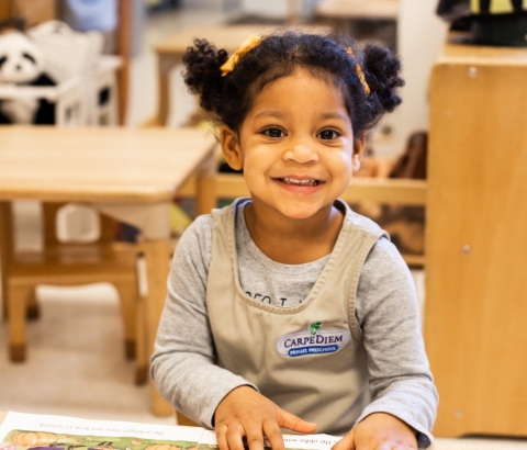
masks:
[[(239, 280), (248, 295), (278, 306), (306, 297), (328, 256), (305, 265), (282, 265), (264, 255), (250, 238), (240, 203), (236, 214)], [(214, 364), (214, 342), (205, 303), (212, 254), (212, 216), (204, 215), (181, 237), (168, 280), (152, 375), (161, 395), (204, 426), (233, 389), (251, 385)], [(358, 420), (383, 412), (418, 431), (419, 447), (430, 442), (437, 393), (421, 334), (413, 281), (395, 247), (381, 238), (362, 268), (356, 315), (368, 352), (373, 402)], [(255, 386), (256, 389), (256, 386)]]

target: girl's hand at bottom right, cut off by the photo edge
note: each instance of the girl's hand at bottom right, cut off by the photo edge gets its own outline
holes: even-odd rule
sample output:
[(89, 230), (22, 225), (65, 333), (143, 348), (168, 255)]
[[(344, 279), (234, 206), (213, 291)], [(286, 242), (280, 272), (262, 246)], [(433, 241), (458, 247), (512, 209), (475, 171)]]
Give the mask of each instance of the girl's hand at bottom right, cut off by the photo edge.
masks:
[(357, 424), (332, 450), (417, 450), (415, 430), (396, 417), (375, 413)]

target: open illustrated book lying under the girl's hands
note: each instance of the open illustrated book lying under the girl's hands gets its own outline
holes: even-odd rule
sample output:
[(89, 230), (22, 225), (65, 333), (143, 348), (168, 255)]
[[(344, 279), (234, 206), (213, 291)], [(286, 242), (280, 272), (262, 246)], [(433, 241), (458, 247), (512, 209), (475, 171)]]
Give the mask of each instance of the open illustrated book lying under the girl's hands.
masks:
[[(341, 438), (284, 435), (288, 449), (329, 450)], [(9, 412), (0, 425), (0, 450), (213, 450), (214, 431), (200, 427), (88, 420)]]

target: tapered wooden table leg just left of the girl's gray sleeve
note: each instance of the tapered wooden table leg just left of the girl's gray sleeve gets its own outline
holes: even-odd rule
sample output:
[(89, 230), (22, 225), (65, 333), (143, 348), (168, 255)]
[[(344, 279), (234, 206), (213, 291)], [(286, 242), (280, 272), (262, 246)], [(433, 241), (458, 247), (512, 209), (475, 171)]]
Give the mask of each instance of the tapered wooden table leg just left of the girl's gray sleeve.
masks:
[[(148, 355), (154, 351), (159, 317), (167, 296), (167, 279), (170, 271), (170, 241), (168, 239), (146, 240), (143, 243), (146, 258), (148, 294), (146, 297), (145, 313), (146, 342)], [(150, 380), (152, 409), (156, 416), (170, 416), (173, 407), (161, 398)]]

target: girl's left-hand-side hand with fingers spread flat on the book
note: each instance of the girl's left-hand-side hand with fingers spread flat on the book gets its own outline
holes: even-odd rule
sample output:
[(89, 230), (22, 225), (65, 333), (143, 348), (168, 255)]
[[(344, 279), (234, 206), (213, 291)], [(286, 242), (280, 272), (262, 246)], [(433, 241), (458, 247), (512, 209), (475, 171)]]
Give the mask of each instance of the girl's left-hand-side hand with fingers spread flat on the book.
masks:
[(316, 430), (315, 424), (287, 413), (249, 386), (231, 391), (214, 417), (220, 450), (244, 450), (244, 437), (250, 450), (264, 450), (264, 437), (273, 450), (283, 450), (280, 427), (305, 434)]

